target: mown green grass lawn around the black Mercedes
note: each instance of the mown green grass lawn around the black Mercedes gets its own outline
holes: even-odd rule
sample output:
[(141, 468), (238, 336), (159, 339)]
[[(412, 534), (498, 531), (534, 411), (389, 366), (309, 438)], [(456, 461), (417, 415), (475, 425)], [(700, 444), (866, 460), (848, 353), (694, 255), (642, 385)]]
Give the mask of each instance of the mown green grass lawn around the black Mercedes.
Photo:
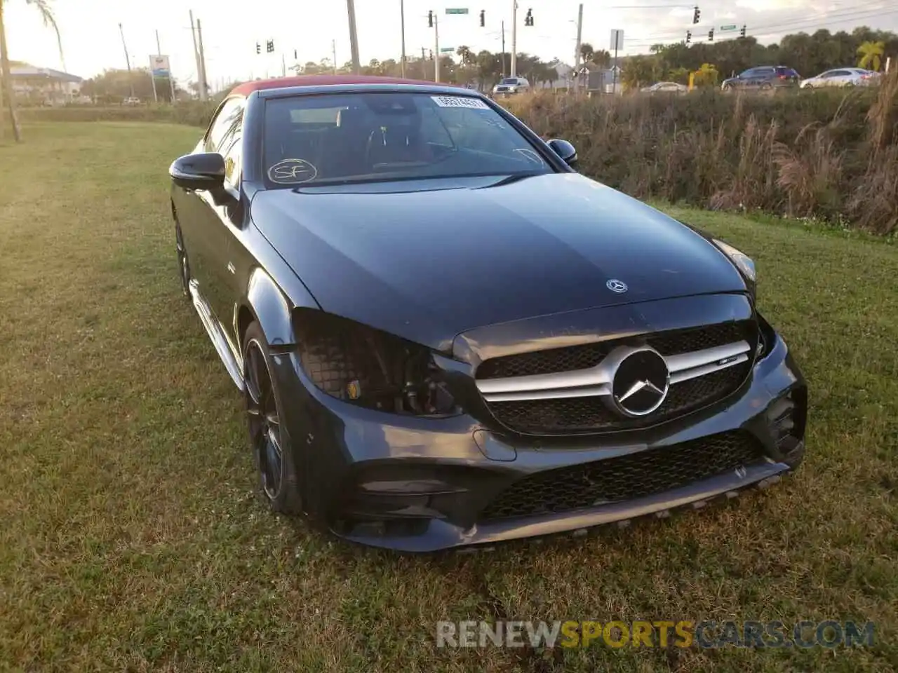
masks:
[[(794, 479), (483, 555), (361, 550), (269, 515), (240, 398), (180, 296), (166, 169), (195, 128), (0, 145), (0, 669), (898, 667), (898, 250), (675, 209), (753, 255), (810, 382)], [(835, 651), (437, 650), (438, 619), (856, 619)]]

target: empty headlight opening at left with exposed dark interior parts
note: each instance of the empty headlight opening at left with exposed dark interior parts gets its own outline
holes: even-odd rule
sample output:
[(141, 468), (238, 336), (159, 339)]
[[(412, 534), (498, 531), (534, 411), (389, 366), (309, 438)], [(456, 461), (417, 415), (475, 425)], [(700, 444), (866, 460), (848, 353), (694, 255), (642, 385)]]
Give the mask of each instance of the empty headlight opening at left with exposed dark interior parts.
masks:
[(393, 414), (458, 413), (426, 347), (321, 310), (298, 309), (294, 322), (303, 371), (331, 397)]

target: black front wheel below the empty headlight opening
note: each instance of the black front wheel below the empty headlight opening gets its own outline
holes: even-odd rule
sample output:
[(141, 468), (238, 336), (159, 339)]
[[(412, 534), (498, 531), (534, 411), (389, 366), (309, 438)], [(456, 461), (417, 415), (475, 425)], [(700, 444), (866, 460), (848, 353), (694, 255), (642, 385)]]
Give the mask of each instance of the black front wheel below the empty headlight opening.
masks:
[(299, 514), (302, 498), (282, 414), (285, 406), (271, 375), (271, 353), (258, 322), (246, 329), (242, 353), (247, 430), (261, 496), (271, 511)]

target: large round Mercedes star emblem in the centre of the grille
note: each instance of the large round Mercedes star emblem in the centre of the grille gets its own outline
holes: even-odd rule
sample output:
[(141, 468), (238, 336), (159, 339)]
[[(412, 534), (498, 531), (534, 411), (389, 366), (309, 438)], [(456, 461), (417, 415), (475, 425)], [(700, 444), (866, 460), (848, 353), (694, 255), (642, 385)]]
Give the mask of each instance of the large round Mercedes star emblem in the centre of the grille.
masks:
[(614, 371), (612, 400), (623, 415), (651, 414), (667, 397), (670, 371), (665, 359), (651, 348), (627, 355)]

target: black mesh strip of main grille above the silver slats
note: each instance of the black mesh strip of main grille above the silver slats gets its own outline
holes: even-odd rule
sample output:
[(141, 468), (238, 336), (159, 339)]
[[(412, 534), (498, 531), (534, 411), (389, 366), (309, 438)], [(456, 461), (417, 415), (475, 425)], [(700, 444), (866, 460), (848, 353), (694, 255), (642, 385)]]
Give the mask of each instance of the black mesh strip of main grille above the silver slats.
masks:
[[(713, 348), (716, 345), (732, 344), (747, 339), (753, 343), (757, 328), (753, 321), (724, 322), (700, 328), (678, 329), (656, 332), (629, 341), (646, 343), (662, 355), (674, 355)], [(602, 362), (612, 348), (621, 341), (601, 341), (594, 344), (569, 345), (516, 355), (506, 355), (485, 361), (477, 368), (478, 379), (505, 379), (531, 374), (551, 374), (558, 371), (588, 369)]]

